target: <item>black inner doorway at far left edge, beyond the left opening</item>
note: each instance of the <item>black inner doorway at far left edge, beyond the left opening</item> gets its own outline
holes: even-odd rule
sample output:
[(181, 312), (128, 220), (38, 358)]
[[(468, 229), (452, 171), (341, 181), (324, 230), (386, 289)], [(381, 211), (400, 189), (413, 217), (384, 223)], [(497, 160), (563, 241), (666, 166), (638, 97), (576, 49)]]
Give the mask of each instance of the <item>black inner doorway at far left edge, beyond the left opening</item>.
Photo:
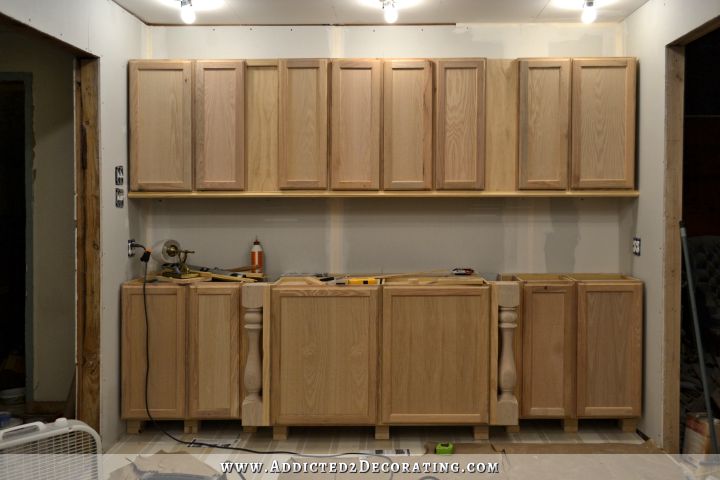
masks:
[(25, 358), (31, 348), (32, 325), (32, 302), (28, 300), (32, 282), (26, 268), (32, 264), (26, 173), (32, 144), (31, 95), (29, 74), (0, 74), (0, 251), (5, 252), (0, 275), (0, 393), (11, 403), (30, 376)]

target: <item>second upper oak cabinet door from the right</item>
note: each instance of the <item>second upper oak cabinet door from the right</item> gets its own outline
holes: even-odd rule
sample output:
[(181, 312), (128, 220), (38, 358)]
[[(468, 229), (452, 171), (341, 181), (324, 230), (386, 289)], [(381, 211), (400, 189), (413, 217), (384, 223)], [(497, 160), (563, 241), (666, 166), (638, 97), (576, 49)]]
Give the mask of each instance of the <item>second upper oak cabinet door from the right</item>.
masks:
[(570, 161), (570, 60), (520, 60), (518, 187), (564, 190)]

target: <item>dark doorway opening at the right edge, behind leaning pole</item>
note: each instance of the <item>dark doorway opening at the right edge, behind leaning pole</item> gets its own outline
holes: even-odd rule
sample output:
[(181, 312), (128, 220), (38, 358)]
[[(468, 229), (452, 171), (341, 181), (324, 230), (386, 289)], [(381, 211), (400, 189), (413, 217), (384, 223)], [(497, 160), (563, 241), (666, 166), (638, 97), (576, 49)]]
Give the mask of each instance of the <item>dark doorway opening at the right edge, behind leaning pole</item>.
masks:
[[(720, 30), (685, 46), (682, 217), (688, 234), (715, 418), (720, 413)], [(681, 421), (705, 412), (686, 282), (682, 292)], [(681, 430), (684, 433), (684, 429)]]

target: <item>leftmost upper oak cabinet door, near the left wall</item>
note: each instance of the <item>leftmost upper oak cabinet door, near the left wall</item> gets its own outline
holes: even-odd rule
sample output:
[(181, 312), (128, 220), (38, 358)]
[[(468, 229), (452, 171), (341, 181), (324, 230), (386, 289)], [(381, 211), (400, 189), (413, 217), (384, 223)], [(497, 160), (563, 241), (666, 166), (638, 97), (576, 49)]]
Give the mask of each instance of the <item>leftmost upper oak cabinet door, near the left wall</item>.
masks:
[(129, 63), (132, 190), (192, 190), (191, 71), (191, 61)]

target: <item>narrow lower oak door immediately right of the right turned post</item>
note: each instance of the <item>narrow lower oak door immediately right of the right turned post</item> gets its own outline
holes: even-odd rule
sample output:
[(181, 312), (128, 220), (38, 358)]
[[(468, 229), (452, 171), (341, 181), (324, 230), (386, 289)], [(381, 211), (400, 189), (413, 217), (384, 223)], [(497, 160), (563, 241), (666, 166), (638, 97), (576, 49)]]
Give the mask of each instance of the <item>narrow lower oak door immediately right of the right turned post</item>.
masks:
[(526, 283), (522, 309), (522, 416), (575, 416), (575, 289)]

